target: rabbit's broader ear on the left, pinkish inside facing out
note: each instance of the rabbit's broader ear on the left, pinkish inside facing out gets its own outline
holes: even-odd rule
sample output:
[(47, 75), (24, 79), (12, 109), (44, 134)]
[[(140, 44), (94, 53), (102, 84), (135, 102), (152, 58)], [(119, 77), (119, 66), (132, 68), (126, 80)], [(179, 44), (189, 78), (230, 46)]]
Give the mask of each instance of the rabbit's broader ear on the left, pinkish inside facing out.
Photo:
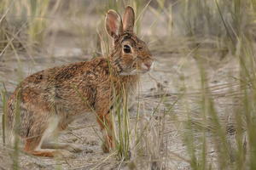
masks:
[(110, 37), (119, 39), (120, 34), (123, 32), (123, 23), (120, 15), (114, 10), (108, 10), (105, 19), (105, 28)]

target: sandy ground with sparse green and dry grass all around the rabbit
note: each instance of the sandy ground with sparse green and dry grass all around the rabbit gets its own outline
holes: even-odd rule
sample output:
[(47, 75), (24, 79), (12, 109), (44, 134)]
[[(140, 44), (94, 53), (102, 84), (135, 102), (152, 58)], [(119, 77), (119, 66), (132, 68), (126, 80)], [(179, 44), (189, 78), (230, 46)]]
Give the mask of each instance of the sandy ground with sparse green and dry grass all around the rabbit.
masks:
[(22, 139), (9, 145), (3, 115), (0, 167), (256, 168), (255, 0), (2, 0), (0, 113), (23, 77), (107, 57), (112, 42), (105, 14), (110, 8), (124, 14), (128, 4), (136, 12), (134, 31), (148, 43), (155, 67), (141, 77), (136, 105), (128, 108), (128, 99), (122, 101), (124, 111), (113, 117), (112, 152), (102, 154), (99, 127), (84, 118), (59, 139), (83, 146), (74, 158), (27, 155)]

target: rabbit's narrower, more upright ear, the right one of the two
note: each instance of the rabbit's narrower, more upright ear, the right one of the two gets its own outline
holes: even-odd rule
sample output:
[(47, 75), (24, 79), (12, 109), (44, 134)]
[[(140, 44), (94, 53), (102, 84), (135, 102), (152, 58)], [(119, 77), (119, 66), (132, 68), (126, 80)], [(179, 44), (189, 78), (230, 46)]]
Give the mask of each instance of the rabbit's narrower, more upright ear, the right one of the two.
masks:
[(135, 20), (134, 10), (131, 6), (127, 6), (125, 8), (125, 15), (124, 15), (124, 31), (133, 31)]

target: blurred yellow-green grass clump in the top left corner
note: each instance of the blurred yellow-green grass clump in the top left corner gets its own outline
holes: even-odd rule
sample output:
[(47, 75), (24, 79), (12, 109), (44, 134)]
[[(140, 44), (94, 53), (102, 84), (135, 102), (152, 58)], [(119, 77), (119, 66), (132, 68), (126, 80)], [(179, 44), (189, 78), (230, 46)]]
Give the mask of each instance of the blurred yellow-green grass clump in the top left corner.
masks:
[[(1, 40), (6, 41), (7, 39), (7, 35), (3, 33), (4, 30), (8, 32), (9, 37), (14, 37), (15, 33), (26, 25), (25, 29), (20, 31), (19, 36), (15, 36), (13, 40), (15, 47), (17, 48), (21, 45), (23, 48), (26, 48), (26, 50), (30, 49), (30, 52), (32, 52), (34, 47), (42, 46), (47, 33), (46, 17), (48, 14), (48, 5), (48, 0), (3, 0), (0, 8), (1, 17), (4, 16), (4, 22), (1, 23)], [(23, 39), (20, 40), (19, 37)], [(0, 45), (3, 48), (6, 44), (1, 42)]]

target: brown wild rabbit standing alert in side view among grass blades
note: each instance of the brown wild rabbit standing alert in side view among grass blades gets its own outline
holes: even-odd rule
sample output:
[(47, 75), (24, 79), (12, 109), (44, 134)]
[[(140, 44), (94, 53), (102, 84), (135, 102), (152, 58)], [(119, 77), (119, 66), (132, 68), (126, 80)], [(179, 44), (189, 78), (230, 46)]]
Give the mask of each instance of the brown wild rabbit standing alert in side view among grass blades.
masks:
[(110, 111), (115, 111), (115, 99), (128, 99), (131, 105), (139, 76), (154, 66), (146, 43), (133, 32), (134, 21), (131, 6), (125, 8), (123, 20), (117, 12), (108, 10), (105, 29), (113, 39), (108, 59), (99, 57), (49, 68), (20, 82), (9, 99), (7, 117), (12, 134), (26, 140), (26, 152), (33, 156), (73, 156), (71, 152), (80, 151), (79, 146), (51, 140), (74, 120), (95, 113), (106, 143), (102, 150), (109, 152), (113, 148)]

